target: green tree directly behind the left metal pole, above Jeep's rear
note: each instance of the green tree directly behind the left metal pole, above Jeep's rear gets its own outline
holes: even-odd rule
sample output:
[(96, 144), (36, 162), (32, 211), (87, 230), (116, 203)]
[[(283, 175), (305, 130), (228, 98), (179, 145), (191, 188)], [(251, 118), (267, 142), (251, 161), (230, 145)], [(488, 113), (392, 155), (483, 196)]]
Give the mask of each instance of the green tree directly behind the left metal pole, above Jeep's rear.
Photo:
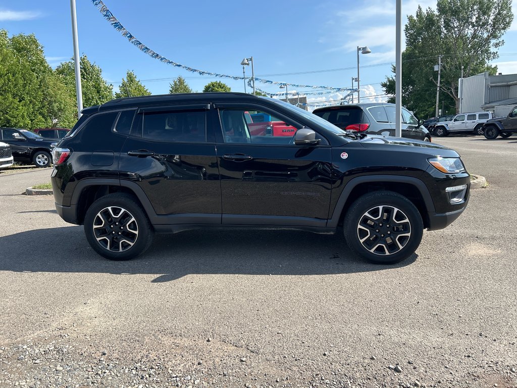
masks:
[[(102, 70), (95, 63), (91, 63), (87, 56), (83, 54), (80, 59), (81, 67), (81, 88), (83, 93), (83, 106), (91, 107), (100, 105), (113, 99), (113, 85), (102, 78)], [(62, 77), (63, 82), (68, 87), (74, 98), (75, 94), (75, 69), (73, 59), (60, 64), (55, 73)]]

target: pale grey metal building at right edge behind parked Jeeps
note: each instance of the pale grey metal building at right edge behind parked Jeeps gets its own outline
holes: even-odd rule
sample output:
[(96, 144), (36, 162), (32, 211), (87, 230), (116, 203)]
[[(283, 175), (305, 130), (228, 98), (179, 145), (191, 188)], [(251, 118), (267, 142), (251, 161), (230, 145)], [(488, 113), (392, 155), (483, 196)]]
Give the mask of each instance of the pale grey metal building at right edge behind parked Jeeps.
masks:
[(498, 117), (517, 106), (517, 74), (489, 76), (486, 71), (459, 81), (460, 113), (492, 111)]

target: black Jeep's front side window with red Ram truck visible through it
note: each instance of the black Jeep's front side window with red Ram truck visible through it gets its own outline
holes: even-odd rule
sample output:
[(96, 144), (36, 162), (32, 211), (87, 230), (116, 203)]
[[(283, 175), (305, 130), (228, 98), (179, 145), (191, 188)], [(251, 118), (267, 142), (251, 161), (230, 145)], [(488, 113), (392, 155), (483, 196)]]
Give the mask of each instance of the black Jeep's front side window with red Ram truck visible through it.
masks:
[(289, 144), (297, 130), (292, 123), (253, 108), (221, 109), (219, 117), (226, 143)]

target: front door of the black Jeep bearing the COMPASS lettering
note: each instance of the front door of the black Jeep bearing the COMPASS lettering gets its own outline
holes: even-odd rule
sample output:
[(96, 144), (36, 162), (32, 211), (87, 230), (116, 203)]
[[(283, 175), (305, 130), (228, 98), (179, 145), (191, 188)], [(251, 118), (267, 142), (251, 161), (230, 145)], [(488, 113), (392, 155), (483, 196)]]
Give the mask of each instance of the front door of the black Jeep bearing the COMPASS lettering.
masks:
[(254, 136), (247, 112), (278, 117), (297, 129), (302, 126), (253, 103), (219, 107), (216, 142), (223, 225), (325, 227), (332, 178), (326, 140), (304, 147), (295, 145), (293, 136)]

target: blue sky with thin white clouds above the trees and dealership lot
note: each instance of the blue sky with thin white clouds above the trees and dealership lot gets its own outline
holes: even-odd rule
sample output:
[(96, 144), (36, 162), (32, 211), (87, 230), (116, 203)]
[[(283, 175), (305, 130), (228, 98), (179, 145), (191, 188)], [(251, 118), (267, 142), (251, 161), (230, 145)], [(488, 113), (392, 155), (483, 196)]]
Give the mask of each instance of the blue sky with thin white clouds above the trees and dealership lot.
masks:
[[(395, 60), (395, 1), (360, 3), (104, 0), (120, 23), (155, 52), (192, 68), (232, 76), (242, 76), (242, 58), (253, 56), (256, 77), (349, 87), (357, 76), (356, 47), (368, 46), (372, 53), (360, 56), (361, 96), (377, 96), (383, 93), (380, 82), (391, 75), (390, 64)], [(414, 14), (418, 4), (426, 8), (436, 2), (403, 1), (403, 15)], [(515, 14), (515, 4), (513, 10)], [(184, 77), (194, 91), (220, 80), (232, 91), (244, 92), (243, 81), (203, 77), (142, 53), (103, 19), (90, 0), (77, 0), (77, 14), (79, 50), (101, 67), (114, 91), (126, 71), (133, 70), (153, 94), (168, 93), (169, 83), (177, 76)], [(73, 55), (68, 1), (0, 0), (0, 28), (10, 35), (34, 33), (53, 67)], [(517, 40), (517, 21), (504, 38), (506, 44), (495, 63), (503, 73), (517, 73), (517, 48), (512, 45)], [(246, 75), (251, 75), (250, 67)], [(256, 85), (268, 93), (285, 90)], [(309, 101), (340, 97), (339, 93), (309, 96)]]

